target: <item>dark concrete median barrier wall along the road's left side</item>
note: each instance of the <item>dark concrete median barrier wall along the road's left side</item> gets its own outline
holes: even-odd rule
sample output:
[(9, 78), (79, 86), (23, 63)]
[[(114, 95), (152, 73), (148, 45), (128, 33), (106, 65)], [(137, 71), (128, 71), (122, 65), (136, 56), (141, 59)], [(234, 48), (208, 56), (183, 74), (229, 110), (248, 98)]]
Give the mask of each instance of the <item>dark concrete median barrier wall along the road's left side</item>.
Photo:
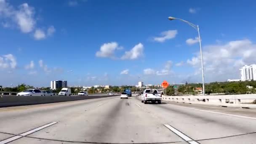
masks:
[(63, 101), (77, 101), (83, 99), (96, 99), (120, 95), (94, 95), (94, 96), (0, 96), (0, 107), (46, 104)]

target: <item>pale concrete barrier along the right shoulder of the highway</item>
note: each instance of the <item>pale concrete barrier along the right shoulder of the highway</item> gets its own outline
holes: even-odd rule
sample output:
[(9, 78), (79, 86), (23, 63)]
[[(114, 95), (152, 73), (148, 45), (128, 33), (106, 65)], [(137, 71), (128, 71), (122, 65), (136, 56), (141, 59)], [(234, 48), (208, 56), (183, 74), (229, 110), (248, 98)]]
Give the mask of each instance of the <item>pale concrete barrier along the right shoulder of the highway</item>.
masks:
[(218, 95), (218, 96), (163, 96), (163, 101), (175, 101), (189, 104), (209, 104), (222, 107), (256, 108), (252, 104), (256, 94)]

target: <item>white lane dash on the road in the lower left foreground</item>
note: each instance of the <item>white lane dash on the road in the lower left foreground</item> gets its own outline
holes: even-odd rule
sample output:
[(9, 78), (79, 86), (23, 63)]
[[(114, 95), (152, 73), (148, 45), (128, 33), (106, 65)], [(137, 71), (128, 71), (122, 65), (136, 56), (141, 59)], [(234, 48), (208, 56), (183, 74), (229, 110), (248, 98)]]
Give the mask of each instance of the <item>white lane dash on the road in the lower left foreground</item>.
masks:
[(31, 133), (35, 133), (35, 132), (37, 132), (37, 131), (40, 131), (41, 129), (46, 128), (46, 127), (51, 126), (51, 125), (54, 125), (54, 124), (56, 124), (56, 123), (57, 123), (57, 122), (48, 123), (48, 124), (46, 124), (46, 125), (43, 125), (43, 126), (40, 126), (40, 127), (38, 127), (38, 128), (32, 129), (31, 131), (27, 131), (27, 132), (25, 132), (25, 133), (21, 133), (21, 134), (19, 134), (18, 136), (13, 136), (13, 137), (11, 137), (11, 138), (8, 138), (8, 139), (5, 139), (5, 140), (3, 140), (3, 141), (0, 141), (0, 144), (6, 144), (6, 143), (11, 142), (11, 141), (14, 141), (14, 140), (16, 140), (16, 139), (20, 139), (20, 138), (22, 138), (22, 137), (24, 137), (24, 136), (27, 136), (27, 135), (29, 135), (29, 134), (31, 134)]

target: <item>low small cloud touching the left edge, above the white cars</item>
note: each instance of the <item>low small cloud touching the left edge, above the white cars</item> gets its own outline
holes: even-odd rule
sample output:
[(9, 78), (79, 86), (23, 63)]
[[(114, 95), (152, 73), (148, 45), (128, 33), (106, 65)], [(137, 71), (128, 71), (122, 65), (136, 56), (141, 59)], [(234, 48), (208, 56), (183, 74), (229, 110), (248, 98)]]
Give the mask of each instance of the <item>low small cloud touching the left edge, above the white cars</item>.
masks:
[(0, 68), (15, 69), (17, 65), (16, 58), (12, 54), (0, 56)]

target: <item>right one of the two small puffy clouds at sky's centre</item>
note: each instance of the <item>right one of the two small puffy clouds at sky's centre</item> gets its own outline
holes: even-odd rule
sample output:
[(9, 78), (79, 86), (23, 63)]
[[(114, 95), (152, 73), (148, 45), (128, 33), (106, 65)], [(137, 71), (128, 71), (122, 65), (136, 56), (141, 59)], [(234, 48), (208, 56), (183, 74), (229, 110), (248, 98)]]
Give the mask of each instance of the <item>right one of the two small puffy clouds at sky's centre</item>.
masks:
[(143, 55), (144, 46), (139, 43), (135, 45), (130, 51), (125, 51), (125, 54), (121, 57), (121, 59), (138, 59)]

